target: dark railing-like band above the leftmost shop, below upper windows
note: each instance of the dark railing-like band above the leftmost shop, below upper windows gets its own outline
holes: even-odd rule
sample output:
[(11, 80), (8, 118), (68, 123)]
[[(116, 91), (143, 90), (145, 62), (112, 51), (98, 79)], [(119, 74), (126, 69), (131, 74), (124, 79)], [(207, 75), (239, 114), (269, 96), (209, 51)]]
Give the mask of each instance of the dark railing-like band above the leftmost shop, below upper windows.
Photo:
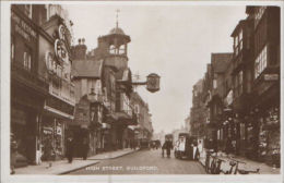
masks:
[(22, 77), (23, 82), (27, 83), (32, 87), (39, 88), (43, 91), (48, 93), (48, 82), (45, 77), (32, 72), (31, 70), (24, 68), (23, 64), (16, 63), (15, 61), (11, 63), (11, 74), (16, 78)]

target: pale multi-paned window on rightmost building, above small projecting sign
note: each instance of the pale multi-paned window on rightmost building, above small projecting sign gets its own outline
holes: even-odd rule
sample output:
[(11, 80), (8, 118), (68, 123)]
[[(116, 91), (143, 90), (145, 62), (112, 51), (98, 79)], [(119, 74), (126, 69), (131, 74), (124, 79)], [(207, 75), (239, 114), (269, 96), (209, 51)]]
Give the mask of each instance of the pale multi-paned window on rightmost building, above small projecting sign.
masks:
[(261, 50), (255, 62), (255, 78), (257, 78), (268, 65), (268, 47)]

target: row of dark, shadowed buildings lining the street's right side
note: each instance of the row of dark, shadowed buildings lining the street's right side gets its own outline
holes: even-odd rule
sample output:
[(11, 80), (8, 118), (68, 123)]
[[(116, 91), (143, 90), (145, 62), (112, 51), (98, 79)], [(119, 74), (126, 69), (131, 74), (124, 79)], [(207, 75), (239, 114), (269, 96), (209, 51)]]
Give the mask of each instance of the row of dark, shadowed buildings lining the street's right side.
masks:
[(203, 78), (205, 134), (214, 145), (206, 148), (280, 167), (280, 8), (246, 13), (230, 35), (234, 52), (212, 53)]

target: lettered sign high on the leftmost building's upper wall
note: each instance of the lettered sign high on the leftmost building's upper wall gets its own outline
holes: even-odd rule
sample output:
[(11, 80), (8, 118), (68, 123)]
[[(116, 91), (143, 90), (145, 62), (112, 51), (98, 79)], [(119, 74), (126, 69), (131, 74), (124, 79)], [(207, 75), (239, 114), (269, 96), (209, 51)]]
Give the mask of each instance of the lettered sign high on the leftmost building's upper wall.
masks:
[(15, 32), (23, 36), (27, 41), (36, 39), (36, 32), (27, 25), (20, 16), (15, 13), (11, 13), (11, 19), (15, 22)]

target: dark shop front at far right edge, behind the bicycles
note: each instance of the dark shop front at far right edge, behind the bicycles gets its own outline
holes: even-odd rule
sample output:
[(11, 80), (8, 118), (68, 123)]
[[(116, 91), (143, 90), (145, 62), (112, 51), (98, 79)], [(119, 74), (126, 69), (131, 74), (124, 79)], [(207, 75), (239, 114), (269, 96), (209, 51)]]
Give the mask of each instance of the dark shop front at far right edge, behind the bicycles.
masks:
[[(268, 75), (268, 74), (267, 74)], [(273, 80), (272, 80), (273, 78)], [(256, 87), (255, 110), (258, 111), (258, 160), (280, 167), (280, 82), (261, 77)], [(276, 77), (279, 78), (279, 77)]]

